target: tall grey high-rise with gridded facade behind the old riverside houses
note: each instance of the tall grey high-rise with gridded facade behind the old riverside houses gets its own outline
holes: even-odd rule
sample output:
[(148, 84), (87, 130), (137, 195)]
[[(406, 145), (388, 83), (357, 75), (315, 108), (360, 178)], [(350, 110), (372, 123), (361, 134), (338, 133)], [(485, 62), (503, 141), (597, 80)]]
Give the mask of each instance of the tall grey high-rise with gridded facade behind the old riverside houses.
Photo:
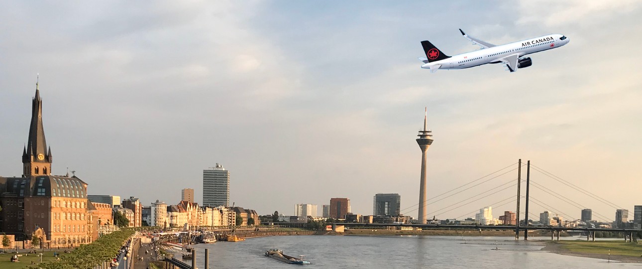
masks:
[(230, 206), (230, 171), (221, 164), (203, 170), (203, 205)]

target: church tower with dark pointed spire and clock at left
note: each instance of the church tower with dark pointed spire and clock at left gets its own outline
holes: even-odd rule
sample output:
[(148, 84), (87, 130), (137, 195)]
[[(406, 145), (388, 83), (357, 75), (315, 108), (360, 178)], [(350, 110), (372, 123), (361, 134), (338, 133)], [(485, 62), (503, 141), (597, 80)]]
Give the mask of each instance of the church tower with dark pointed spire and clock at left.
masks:
[(42, 99), (36, 82), (36, 95), (31, 104), (29, 140), (22, 151), (22, 177), (51, 175), (51, 148), (47, 148), (42, 129)]

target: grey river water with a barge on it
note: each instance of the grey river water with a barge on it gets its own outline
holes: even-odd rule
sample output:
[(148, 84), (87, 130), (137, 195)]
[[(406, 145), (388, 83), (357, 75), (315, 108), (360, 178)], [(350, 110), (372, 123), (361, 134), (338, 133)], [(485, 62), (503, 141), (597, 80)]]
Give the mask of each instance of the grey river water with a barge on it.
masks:
[[(642, 264), (562, 256), (542, 251), (542, 243), (507, 237), (455, 236), (270, 236), (241, 242), (198, 244), (196, 266), (210, 268), (293, 268), (263, 256), (269, 248), (304, 255), (306, 268), (642, 268)], [(550, 238), (548, 238), (550, 239)], [(573, 238), (565, 238), (573, 239)], [(580, 238), (576, 238), (580, 239)], [(586, 237), (585, 237), (586, 239)], [(186, 261), (191, 264), (191, 261)]]

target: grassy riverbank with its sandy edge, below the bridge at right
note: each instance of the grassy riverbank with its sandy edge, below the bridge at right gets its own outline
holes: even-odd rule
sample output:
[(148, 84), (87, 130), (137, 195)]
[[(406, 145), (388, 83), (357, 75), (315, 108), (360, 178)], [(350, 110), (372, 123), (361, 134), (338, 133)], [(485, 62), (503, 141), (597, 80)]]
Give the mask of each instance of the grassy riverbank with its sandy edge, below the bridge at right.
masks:
[[(642, 245), (622, 241), (550, 241), (542, 248), (560, 255), (642, 263)], [(609, 252), (611, 253), (609, 255)]]

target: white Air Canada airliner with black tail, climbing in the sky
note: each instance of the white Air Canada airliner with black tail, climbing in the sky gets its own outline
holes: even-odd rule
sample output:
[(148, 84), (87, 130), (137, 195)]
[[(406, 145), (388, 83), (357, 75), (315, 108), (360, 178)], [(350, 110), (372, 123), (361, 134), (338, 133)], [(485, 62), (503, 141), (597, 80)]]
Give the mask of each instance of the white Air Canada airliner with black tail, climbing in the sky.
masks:
[(421, 46), (424, 47), (424, 52), (428, 58), (419, 57), (419, 60), (424, 62), (421, 68), (430, 69), (430, 73), (435, 73), (438, 69), (464, 69), (482, 64), (503, 63), (507, 65), (510, 72), (515, 72), (519, 68), (529, 67), (533, 64), (530, 57), (524, 56), (561, 47), (570, 41), (568, 37), (555, 33), (503, 45), (493, 45), (466, 35), (461, 29), (459, 31), (462, 32), (466, 39), (471, 40), (473, 45), (477, 44), (482, 49), (455, 56), (447, 56), (431, 42), (424, 40), (421, 42)]

